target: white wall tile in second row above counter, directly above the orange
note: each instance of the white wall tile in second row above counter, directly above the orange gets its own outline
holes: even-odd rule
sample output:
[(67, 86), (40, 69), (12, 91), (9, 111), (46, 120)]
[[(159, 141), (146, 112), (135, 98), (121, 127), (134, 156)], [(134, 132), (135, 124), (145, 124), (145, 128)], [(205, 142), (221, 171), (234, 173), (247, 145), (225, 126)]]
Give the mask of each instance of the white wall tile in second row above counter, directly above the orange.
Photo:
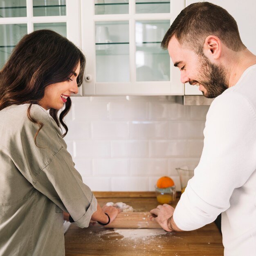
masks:
[(168, 174), (168, 159), (130, 159), (131, 176), (159, 176)]

